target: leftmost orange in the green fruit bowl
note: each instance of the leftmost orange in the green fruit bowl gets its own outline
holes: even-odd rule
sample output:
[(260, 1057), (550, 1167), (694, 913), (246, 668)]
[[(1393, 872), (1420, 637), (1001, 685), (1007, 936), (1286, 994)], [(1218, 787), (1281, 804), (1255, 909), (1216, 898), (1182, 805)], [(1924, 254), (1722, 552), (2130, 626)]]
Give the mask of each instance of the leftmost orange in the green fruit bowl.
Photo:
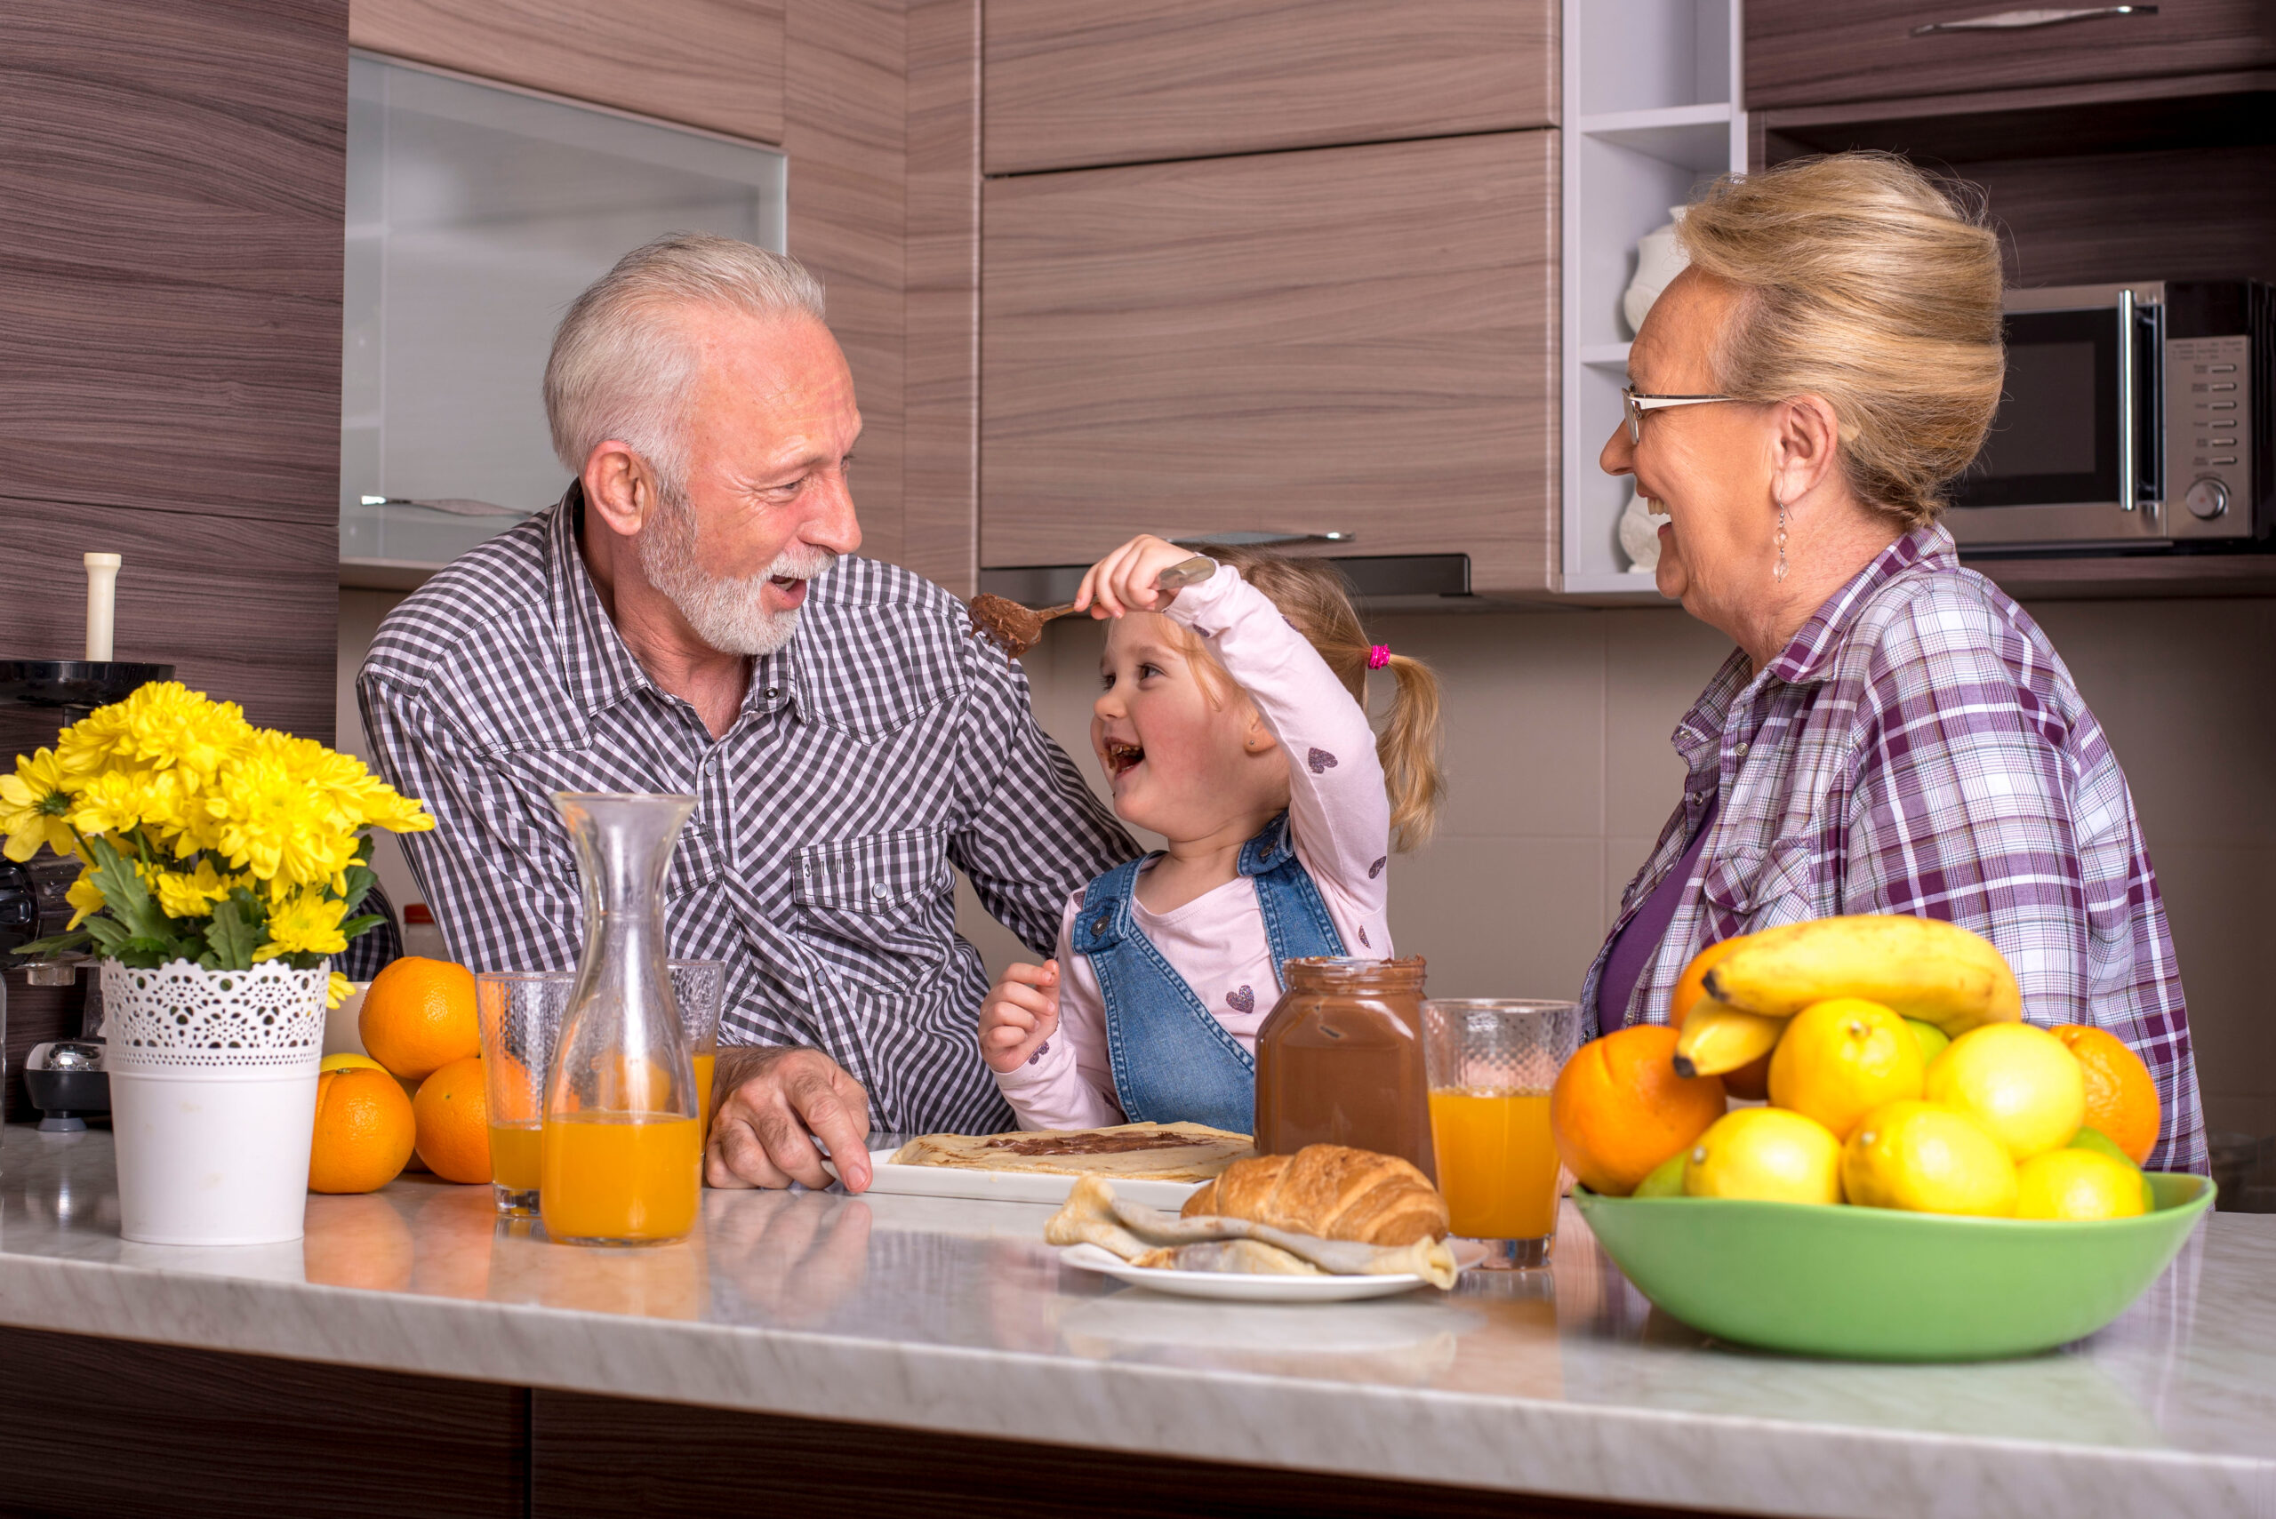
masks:
[(1557, 1155), (1589, 1192), (1627, 1196), (1723, 1117), (1723, 1080), (1675, 1073), (1675, 1030), (1636, 1023), (1580, 1046), (1550, 1089)]

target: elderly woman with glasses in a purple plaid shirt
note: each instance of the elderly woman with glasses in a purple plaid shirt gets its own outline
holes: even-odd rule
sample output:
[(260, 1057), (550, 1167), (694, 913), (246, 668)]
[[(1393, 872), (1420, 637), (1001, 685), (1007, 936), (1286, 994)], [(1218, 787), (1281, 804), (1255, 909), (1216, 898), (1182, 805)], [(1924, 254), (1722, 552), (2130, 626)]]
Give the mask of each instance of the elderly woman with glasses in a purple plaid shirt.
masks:
[(1994, 234), (1900, 159), (1723, 180), (1630, 350), (1602, 466), (1668, 516), (1659, 591), (1737, 650), (1675, 728), (1682, 803), (1582, 991), (1666, 1019), (1700, 948), (1841, 912), (1989, 937), (2032, 1023), (2158, 1080), (2162, 1169), (2205, 1169), (2158, 875), (2039, 625), (1937, 525), (1998, 405)]

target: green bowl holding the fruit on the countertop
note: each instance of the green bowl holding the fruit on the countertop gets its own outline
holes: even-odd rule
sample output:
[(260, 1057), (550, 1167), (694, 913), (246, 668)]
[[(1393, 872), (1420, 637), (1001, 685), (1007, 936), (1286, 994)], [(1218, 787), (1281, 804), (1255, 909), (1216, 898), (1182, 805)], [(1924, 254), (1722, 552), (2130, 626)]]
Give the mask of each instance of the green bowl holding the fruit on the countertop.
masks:
[(1846, 1360), (1994, 1360), (2092, 1335), (2164, 1273), (2212, 1182), (2149, 1182), (2155, 1212), (2098, 1223), (1586, 1187), (1573, 1201), (1627, 1280), (1700, 1333)]

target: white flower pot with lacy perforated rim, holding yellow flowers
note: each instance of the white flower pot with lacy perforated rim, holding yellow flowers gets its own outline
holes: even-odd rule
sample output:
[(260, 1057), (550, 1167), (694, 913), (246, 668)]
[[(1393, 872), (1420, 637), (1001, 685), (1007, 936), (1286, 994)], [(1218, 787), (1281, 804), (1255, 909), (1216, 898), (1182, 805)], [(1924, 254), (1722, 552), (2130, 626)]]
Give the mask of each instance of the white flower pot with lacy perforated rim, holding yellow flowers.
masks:
[(102, 964), (118, 1232), (141, 1244), (300, 1237), (330, 971)]

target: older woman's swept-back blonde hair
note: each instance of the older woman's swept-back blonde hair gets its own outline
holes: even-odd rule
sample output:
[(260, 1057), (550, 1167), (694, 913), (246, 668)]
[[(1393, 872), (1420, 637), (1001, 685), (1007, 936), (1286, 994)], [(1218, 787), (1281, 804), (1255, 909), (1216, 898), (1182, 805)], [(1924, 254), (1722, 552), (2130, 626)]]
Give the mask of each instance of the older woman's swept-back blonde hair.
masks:
[(1971, 186), (1889, 152), (1716, 180), (1680, 223), (1691, 266), (1739, 287), (1723, 389), (1823, 396), (1857, 500), (1932, 523), (1982, 448), (2007, 355), (1998, 236)]

